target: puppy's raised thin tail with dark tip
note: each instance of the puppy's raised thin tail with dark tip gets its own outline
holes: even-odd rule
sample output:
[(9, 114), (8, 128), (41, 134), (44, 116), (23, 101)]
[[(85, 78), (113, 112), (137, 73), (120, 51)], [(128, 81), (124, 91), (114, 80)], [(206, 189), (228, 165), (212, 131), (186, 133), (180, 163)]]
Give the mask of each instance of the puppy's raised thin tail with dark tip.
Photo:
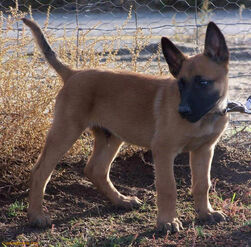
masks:
[(22, 21), (31, 29), (33, 36), (35, 37), (37, 44), (40, 47), (48, 63), (56, 70), (56, 72), (62, 77), (64, 81), (67, 80), (67, 78), (71, 76), (73, 70), (70, 69), (67, 65), (63, 64), (57, 58), (55, 52), (48, 44), (42, 30), (36, 22), (26, 18), (22, 18)]

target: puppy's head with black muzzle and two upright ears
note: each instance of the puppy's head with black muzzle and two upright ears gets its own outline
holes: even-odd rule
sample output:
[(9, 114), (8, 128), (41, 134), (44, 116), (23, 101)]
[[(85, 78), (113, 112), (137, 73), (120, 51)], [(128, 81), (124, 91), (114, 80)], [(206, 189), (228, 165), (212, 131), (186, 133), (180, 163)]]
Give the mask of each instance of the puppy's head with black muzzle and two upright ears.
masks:
[(169, 70), (177, 79), (181, 97), (178, 111), (194, 123), (227, 94), (229, 51), (225, 38), (210, 22), (202, 54), (188, 58), (165, 37), (162, 37), (161, 45)]

